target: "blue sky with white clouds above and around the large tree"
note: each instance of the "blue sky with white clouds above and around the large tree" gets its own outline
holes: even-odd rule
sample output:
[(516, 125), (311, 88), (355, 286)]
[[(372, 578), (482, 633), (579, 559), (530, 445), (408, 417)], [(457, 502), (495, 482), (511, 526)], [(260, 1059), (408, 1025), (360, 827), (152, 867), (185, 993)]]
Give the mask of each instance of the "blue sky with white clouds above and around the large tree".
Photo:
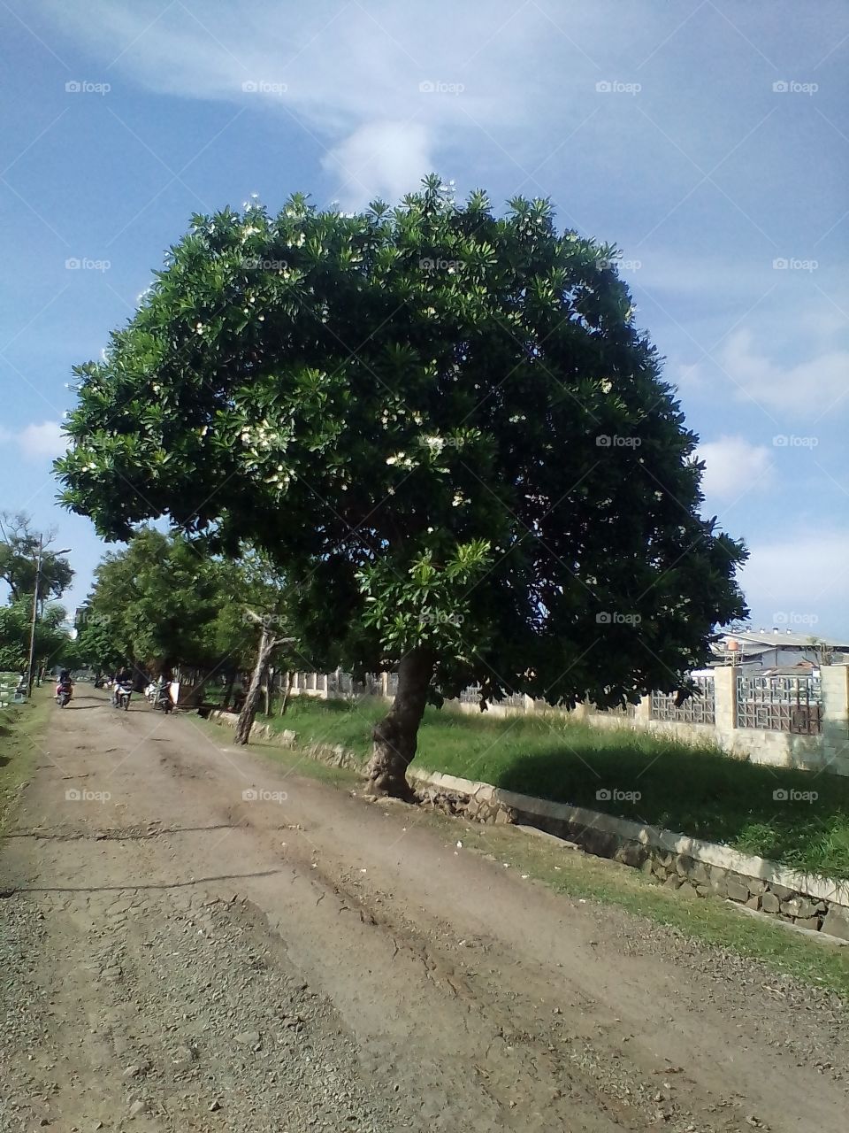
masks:
[(753, 623), (849, 636), (843, 0), (0, 0), (0, 509), (74, 548), (69, 605), (103, 551), (50, 476), (70, 367), (190, 214), (436, 170), (621, 248)]

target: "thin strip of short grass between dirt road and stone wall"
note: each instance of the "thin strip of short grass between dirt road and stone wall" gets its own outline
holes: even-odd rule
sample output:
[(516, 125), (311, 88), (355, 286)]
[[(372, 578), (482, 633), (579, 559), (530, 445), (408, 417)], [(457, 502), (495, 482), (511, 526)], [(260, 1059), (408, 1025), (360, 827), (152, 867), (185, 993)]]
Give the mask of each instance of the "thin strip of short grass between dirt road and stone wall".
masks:
[[(308, 715), (311, 717), (311, 714)], [(290, 726), (294, 726), (294, 718)], [(350, 726), (350, 718), (344, 723)], [(211, 738), (222, 739), (220, 725), (206, 722), (199, 722), (199, 725)], [(326, 734), (316, 734), (315, 739), (328, 743), (344, 742)], [(366, 744), (361, 753), (365, 755), (367, 749)], [(293, 774), (345, 789), (359, 782), (351, 770), (306, 759), (292, 749), (259, 744), (257, 750)], [(695, 940), (731, 948), (740, 955), (762, 961), (775, 972), (829, 988), (849, 998), (849, 947), (825, 939), (813, 940), (766, 919), (749, 918), (717, 897), (687, 896), (684, 891), (671, 893), (650, 881), (638, 870), (575, 853), (554, 841), (535, 838), (515, 827), (479, 826), (429, 811), (417, 812), (415, 823), (434, 828), (452, 843), (462, 832), (465, 851), (507, 862), (520, 875), (525, 874), (557, 893), (574, 900), (616, 905)]]

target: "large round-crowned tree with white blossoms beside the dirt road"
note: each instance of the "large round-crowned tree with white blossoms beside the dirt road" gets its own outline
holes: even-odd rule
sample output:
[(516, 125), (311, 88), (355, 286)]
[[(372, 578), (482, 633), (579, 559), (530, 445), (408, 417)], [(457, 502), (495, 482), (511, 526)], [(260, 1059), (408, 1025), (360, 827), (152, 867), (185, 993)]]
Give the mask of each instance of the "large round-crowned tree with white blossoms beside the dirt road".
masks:
[(196, 216), (76, 374), (69, 508), (251, 543), (299, 582), (306, 648), (398, 666), (380, 790), (406, 792), (428, 698), (678, 689), (745, 611), (616, 250), (547, 201), (499, 216), (428, 178), (357, 215)]

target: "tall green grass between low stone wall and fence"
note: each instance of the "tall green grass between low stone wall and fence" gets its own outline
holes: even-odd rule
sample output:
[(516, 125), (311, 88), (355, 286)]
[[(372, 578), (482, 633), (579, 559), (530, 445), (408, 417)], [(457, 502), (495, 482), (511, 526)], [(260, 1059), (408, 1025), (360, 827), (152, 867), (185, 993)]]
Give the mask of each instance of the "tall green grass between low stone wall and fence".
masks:
[[(274, 726), (299, 742), (341, 743), (363, 760), (379, 700), (294, 698)], [(626, 729), (563, 717), (428, 708), (417, 765), (521, 794), (606, 810), (721, 842), (805, 872), (849, 879), (849, 777), (764, 767)], [(638, 793), (599, 799), (597, 792)], [(774, 792), (787, 792), (777, 799)], [(814, 800), (792, 792), (816, 792)]]

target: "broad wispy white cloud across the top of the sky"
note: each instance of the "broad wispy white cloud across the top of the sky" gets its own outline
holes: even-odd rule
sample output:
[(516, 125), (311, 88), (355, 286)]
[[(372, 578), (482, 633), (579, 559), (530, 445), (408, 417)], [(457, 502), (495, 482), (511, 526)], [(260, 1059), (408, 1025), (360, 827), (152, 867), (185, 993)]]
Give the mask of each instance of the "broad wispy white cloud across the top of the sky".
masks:
[[(290, 135), (302, 131), (321, 146), (331, 165), (334, 157), (355, 157), (371, 133), (393, 123), (398, 159), (378, 169), (376, 181), (396, 186), (395, 196), (418, 187), (419, 159), (430, 169), (452, 163), (454, 171), (468, 170), (473, 145), (528, 194), (547, 191), (550, 170), (537, 181), (529, 173), (552, 153), (580, 160), (573, 135), (575, 144), (618, 163), (617, 110), (625, 107), (599, 94), (595, 84), (629, 74), (640, 51), (649, 56), (679, 23), (677, 14), (659, 14), (648, 3), (626, 20), (619, 0), (571, 6), (568, 12), (515, 0), (488, 0), (484, 7), (456, 0), (32, 2), (49, 10), (54, 29), (100, 59), (106, 77), (248, 112), (265, 109)], [(91, 70), (100, 78), (96, 62)], [(402, 186), (402, 172), (412, 171), (417, 179)], [(363, 193), (357, 204), (367, 198)]]

